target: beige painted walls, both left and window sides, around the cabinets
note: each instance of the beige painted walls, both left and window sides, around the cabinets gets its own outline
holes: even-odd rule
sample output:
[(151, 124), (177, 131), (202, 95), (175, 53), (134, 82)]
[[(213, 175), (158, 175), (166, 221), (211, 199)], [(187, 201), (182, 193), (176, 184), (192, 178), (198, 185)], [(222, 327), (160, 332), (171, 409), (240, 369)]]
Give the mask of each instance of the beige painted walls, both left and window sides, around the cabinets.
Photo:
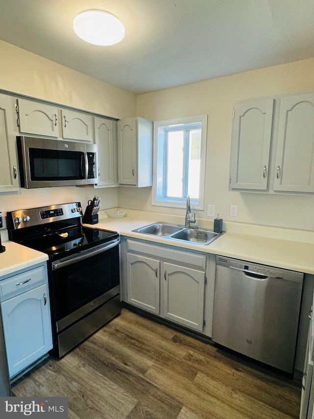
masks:
[[(314, 59), (222, 77), (138, 95), (0, 41), (0, 89), (116, 118), (142, 116), (152, 120), (208, 114), (205, 208), (214, 204), (225, 220), (314, 230), (314, 196), (274, 196), (228, 192), (230, 138), (234, 102), (248, 98), (314, 90)], [(136, 110), (137, 106), (137, 110)], [(118, 192), (117, 192), (118, 191)], [(21, 195), (0, 196), (0, 211), (52, 202), (81, 200), (94, 193), (104, 208), (116, 206), (182, 214), (182, 210), (151, 205), (151, 188), (22, 189)], [(229, 217), (230, 204), (237, 217)], [(204, 212), (197, 216), (205, 217)]]

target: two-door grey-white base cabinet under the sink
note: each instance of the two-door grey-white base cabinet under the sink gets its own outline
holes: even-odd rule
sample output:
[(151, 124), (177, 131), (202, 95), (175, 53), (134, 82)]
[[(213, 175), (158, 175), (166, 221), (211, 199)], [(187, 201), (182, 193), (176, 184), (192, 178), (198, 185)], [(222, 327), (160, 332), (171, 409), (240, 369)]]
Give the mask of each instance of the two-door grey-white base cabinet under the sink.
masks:
[(124, 247), (124, 300), (174, 323), (211, 335), (213, 283), (207, 286), (209, 255), (131, 239), (124, 242), (122, 249)]

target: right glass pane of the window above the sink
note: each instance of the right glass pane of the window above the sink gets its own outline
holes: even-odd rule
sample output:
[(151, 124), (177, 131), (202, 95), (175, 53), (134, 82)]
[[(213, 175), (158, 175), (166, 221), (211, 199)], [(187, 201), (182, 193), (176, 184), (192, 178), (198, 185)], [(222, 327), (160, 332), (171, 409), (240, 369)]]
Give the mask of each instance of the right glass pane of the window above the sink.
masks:
[(187, 193), (191, 198), (200, 195), (201, 130), (190, 130)]

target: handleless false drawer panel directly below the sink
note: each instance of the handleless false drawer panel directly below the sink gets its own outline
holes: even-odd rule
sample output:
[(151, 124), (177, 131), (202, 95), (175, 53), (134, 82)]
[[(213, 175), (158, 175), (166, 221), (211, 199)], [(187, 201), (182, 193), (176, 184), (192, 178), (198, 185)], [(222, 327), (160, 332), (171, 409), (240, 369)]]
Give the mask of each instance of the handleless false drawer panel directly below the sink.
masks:
[(127, 240), (128, 251), (141, 252), (144, 254), (150, 254), (154, 257), (162, 259), (168, 259), (183, 263), (188, 266), (196, 266), (198, 268), (206, 269), (206, 254), (196, 253), (193, 251), (181, 251), (173, 249), (169, 246), (162, 245), (151, 245), (147, 242), (140, 240)]

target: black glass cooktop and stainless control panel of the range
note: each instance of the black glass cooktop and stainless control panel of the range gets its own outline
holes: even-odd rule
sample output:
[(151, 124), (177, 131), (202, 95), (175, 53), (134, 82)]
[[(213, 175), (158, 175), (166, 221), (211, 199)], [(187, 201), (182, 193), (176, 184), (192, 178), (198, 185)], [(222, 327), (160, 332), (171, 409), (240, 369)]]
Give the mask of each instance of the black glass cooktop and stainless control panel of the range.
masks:
[(52, 260), (119, 238), (116, 231), (82, 226), (81, 216), (79, 202), (8, 212), (9, 238)]

